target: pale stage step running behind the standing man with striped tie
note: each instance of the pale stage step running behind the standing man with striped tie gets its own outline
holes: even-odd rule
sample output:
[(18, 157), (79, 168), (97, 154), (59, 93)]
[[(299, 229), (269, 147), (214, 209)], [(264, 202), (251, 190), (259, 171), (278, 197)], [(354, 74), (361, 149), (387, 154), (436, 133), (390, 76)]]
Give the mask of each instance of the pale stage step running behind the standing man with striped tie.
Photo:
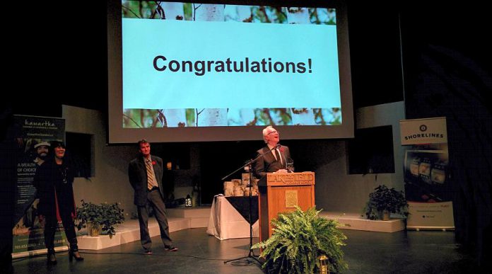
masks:
[[(210, 206), (206, 207), (178, 207), (168, 208), (169, 232), (177, 232), (182, 229), (207, 227), (209, 223)], [(81, 231), (79, 234), (85, 233)], [(156, 218), (148, 219), (148, 233), (159, 236), (159, 225)], [(99, 250), (120, 244), (127, 244), (131, 241), (140, 241), (140, 229), (138, 219), (127, 219), (123, 224), (116, 228), (116, 234), (110, 238), (107, 235), (77, 237), (79, 249)]]

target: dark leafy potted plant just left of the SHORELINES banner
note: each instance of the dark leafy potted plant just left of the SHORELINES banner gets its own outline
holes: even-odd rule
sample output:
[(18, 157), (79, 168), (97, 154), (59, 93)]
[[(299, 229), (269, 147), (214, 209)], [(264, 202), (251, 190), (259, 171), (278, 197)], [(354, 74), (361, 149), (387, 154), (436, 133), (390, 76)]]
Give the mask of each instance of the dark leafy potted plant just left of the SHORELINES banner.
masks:
[(369, 194), (369, 200), (364, 207), (364, 215), (368, 219), (389, 220), (391, 213), (397, 213), (407, 217), (408, 203), (403, 191), (379, 185)]

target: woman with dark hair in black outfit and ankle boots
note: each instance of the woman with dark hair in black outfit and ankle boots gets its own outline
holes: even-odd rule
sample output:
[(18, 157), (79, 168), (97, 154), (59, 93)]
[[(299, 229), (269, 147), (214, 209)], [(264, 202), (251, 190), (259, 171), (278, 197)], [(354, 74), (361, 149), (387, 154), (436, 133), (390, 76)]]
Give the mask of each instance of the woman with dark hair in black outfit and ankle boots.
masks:
[(69, 260), (82, 261), (78, 253), (77, 236), (75, 233), (74, 217), (74, 167), (65, 157), (65, 145), (62, 142), (53, 142), (53, 150), (45, 163), (37, 168), (34, 186), (37, 189), (37, 197), (40, 202), (37, 210), (40, 220), (45, 219), (45, 246), (48, 249), (47, 260), (49, 264), (56, 264), (54, 255), (54, 234), (57, 224), (61, 220), (65, 230), (66, 239), (70, 243)]

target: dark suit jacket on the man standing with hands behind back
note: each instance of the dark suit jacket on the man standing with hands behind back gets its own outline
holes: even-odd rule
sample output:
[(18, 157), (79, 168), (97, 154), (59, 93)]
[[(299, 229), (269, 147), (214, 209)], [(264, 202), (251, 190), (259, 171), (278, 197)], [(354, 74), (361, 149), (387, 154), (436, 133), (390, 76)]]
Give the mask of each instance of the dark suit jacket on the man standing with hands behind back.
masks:
[[(154, 173), (156, 173), (156, 180), (159, 185), (160, 195), (164, 197), (163, 193), (163, 159), (158, 156), (151, 155), (152, 166)], [(130, 161), (128, 165), (128, 178), (131, 186), (135, 190), (134, 204), (144, 206), (147, 204), (147, 168), (145, 165), (144, 157), (139, 156), (136, 159)]]

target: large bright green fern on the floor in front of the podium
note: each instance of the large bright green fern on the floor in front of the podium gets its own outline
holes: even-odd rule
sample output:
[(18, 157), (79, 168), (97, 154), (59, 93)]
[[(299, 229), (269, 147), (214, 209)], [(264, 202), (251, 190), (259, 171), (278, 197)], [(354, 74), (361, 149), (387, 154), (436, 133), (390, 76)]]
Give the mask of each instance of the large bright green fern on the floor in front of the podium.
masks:
[(346, 236), (335, 220), (320, 217), (314, 207), (306, 212), (296, 207), (293, 212), (279, 214), (271, 223), (273, 234), (266, 241), (254, 244), (252, 249), (262, 249), (265, 259), (262, 268), (268, 273), (317, 273), (319, 256), (328, 257), (329, 270), (340, 272), (348, 268), (341, 246)]

